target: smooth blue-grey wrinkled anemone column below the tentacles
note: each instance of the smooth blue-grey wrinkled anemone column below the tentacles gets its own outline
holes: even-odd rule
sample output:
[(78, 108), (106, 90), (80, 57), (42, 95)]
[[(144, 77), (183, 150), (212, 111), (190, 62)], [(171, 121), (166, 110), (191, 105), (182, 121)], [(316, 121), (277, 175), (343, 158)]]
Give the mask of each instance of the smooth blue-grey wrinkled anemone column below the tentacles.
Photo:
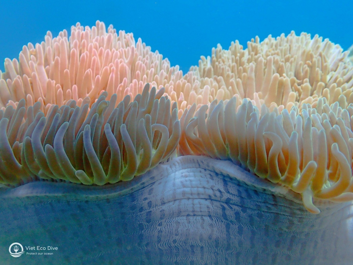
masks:
[[(231, 161), (184, 156), (130, 182), (1, 188), (2, 251), (57, 246), (38, 264), (350, 264), (352, 202), (316, 201)], [(11, 259), (10, 259), (11, 258)], [(31, 257), (1, 255), (1, 264)]]

